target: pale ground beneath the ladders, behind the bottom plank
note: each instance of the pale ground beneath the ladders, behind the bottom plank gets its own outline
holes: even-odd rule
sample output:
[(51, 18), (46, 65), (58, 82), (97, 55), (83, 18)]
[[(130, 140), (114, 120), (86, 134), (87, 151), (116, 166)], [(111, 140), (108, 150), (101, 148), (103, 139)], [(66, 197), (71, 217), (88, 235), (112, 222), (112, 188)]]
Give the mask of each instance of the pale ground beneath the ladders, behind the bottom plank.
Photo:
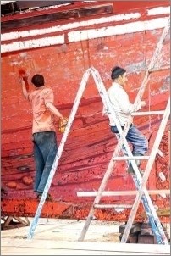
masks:
[[(24, 219), (24, 218), (23, 218)], [(30, 224), (33, 218), (29, 218)], [(77, 241), (85, 220), (61, 220), (40, 218), (36, 225), (33, 237), (58, 240)], [(113, 221), (92, 220), (85, 235), (85, 241), (89, 242), (119, 242), (119, 225)], [(2, 238), (26, 238), (30, 226), (3, 230)]]

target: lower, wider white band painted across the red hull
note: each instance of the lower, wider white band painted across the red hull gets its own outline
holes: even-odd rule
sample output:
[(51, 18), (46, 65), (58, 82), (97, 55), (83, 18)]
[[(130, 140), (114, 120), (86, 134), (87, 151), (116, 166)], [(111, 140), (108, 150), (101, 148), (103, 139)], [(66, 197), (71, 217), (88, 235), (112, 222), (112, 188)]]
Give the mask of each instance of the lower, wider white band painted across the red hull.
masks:
[[(103, 38), (107, 36), (124, 35), (129, 33), (152, 31), (161, 29), (168, 24), (168, 17), (135, 21), (124, 25), (105, 26), (100, 29), (90, 29), (85, 31), (72, 31), (68, 33), (69, 42), (80, 42), (87, 39)], [(63, 44), (64, 35), (62, 36), (49, 36), (41, 39), (33, 39), (25, 42), (11, 42), (1, 45), (1, 53), (13, 52), (17, 50), (25, 50), (30, 48), (47, 47), (51, 45)]]

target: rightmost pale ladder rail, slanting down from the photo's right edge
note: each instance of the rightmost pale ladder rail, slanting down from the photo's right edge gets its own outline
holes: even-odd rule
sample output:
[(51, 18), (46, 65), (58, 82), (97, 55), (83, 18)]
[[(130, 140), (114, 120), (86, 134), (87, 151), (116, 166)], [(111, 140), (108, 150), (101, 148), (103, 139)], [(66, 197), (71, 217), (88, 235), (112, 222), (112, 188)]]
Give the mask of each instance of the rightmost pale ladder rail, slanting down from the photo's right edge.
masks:
[[(129, 235), (129, 233), (130, 233), (131, 225), (132, 225), (132, 223), (135, 219), (135, 214), (136, 214), (136, 211), (138, 209), (139, 203), (141, 201), (141, 197), (142, 197), (142, 194), (144, 192), (144, 188), (146, 186), (146, 181), (149, 177), (150, 170), (152, 169), (152, 164), (153, 164), (154, 159), (155, 159), (156, 154), (157, 154), (157, 148), (159, 147), (159, 144), (162, 140), (163, 132), (164, 132), (164, 130), (166, 128), (166, 125), (168, 123), (169, 114), (170, 114), (170, 100), (168, 99), (167, 108), (165, 110), (165, 114), (163, 115), (163, 120), (161, 122), (161, 125), (159, 126), (156, 140), (155, 140), (154, 145), (152, 147), (152, 154), (150, 156), (150, 159), (148, 160), (148, 163), (146, 164), (145, 173), (144, 173), (142, 181), (141, 181), (141, 187), (140, 187), (140, 190), (138, 191), (138, 193), (136, 195), (135, 203), (133, 204), (133, 207), (130, 211), (129, 220), (128, 220), (127, 225), (124, 229), (124, 234), (123, 234), (121, 242), (125, 242), (127, 240), (127, 237)], [(168, 240), (167, 240), (167, 242), (165, 242), (165, 244), (168, 244)]]

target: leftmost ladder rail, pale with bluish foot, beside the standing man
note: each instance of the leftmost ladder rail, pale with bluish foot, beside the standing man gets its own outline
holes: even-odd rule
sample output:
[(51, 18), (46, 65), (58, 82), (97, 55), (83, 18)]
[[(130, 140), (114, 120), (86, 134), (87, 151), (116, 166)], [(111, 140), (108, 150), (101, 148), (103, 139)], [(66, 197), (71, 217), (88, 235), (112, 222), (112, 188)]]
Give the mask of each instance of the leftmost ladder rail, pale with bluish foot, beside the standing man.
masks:
[(61, 157), (61, 155), (63, 153), (64, 144), (65, 144), (65, 142), (67, 140), (67, 137), (69, 135), (70, 127), (71, 127), (71, 125), (73, 123), (74, 116), (75, 116), (76, 111), (78, 109), (78, 106), (79, 106), (82, 94), (85, 91), (85, 86), (86, 86), (86, 83), (87, 83), (87, 81), (89, 79), (90, 74), (91, 74), (91, 70), (90, 69), (86, 70), (85, 74), (83, 75), (83, 78), (82, 78), (82, 80), (80, 82), (80, 87), (79, 87), (79, 90), (78, 90), (77, 95), (75, 97), (73, 108), (71, 109), (71, 113), (69, 115), (68, 124), (67, 124), (67, 126), (65, 128), (65, 131), (63, 133), (62, 140), (61, 140), (60, 145), (58, 147), (58, 152), (57, 152), (56, 157), (55, 157), (55, 159), (53, 161), (52, 169), (51, 169), (50, 174), (48, 176), (46, 186), (44, 188), (44, 191), (43, 191), (42, 196), (41, 196), (40, 203), (39, 203), (38, 208), (36, 210), (35, 217), (34, 217), (32, 223), (30, 225), (30, 231), (29, 231), (29, 234), (28, 234), (27, 238), (32, 238), (33, 235), (34, 235), (34, 231), (36, 229), (36, 225), (37, 225), (38, 219), (39, 219), (39, 217), (41, 215), (41, 209), (42, 209), (42, 207), (43, 207), (43, 205), (45, 203), (45, 200), (47, 198), (47, 192), (49, 191), (49, 188), (50, 188), (51, 183), (52, 183), (52, 178), (53, 178), (53, 176), (55, 174), (55, 171), (57, 170), (58, 161), (59, 161), (59, 159), (60, 159), (60, 157)]

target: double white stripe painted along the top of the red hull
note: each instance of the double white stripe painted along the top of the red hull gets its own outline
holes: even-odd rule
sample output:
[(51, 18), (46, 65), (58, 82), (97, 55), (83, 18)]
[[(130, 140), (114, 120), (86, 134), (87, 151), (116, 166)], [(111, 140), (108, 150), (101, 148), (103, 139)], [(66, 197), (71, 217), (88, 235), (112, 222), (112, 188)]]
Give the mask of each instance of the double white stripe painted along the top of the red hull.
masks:
[[(151, 12), (150, 12), (151, 11)], [(148, 14), (168, 14), (170, 8), (152, 8), (148, 10)], [(143, 21), (135, 21), (122, 25), (108, 25), (113, 21), (124, 21), (130, 19), (140, 18), (141, 14), (120, 14), (114, 15), (108, 18), (100, 18), (100, 19), (91, 19), (87, 21), (74, 22), (66, 25), (58, 25), (53, 26), (47, 29), (40, 30), (30, 30), (30, 31), (20, 31), (20, 32), (11, 32), (2, 34), (2, 45), (1, 45), (1, 53), (14, 52), (19, 50), (26, 50), (31, 48), (38, 47), (48, 47), (52, 45), (58, 45), (68, 42), (80, 42), (89, 39), (102, 38), (107, 36), (117, 36), (124, 35), (129, 33), (141, 32), (141, 31), (152, 31), (156, 29), (162, 29), (168, 22), (168, 17), (161, 17), (150, 20)], [(108, 20), (108, 21), (107, 21)], [(89, 26), (89, 25), (98, 25), (105, 23), (102, 28), (97, 29), (86, 29), (79, 31), (69, 31), (64, 35), (58, 36), (47, 36), (48, 33), (60, 32), (60, 31), (68, 31), (72, 29), (78, 29), (80, 27)], [(20, 38), (25, 38), (25, 36), (44, 36), (39, 39), (30, 39), (30, 40), (20, 40)], [(46, 36), (46, 37), (45, 37)], [(68, 38), (67, 42), (65, 42), (65, 36)], [(18, 39), (17, 42), (9, 42), (4, 43), (3, 41)]]

